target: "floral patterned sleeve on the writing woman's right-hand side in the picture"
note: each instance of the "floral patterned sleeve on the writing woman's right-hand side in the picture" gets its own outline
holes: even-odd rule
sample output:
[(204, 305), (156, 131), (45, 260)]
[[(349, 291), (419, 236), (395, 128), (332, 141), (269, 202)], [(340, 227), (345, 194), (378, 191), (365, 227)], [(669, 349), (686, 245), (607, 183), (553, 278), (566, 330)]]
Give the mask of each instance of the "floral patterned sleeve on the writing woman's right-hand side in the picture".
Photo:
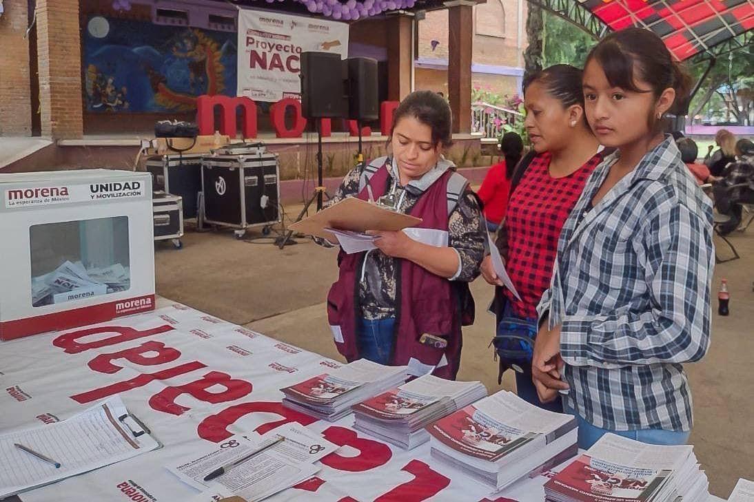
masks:
[(480, 274), (485, 255), (486, 229), (477, 197), (468, 189), (448, 220), (448, 246), (455, 249), (461, 267), (453, 280), (470, 282)]

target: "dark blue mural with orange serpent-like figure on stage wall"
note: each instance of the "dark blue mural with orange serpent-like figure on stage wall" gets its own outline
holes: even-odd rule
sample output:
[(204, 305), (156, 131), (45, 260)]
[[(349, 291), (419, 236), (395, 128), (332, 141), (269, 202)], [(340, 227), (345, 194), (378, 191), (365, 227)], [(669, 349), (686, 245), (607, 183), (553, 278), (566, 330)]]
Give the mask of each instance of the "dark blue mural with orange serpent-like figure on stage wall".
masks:
[(236, 34), (92, 16), (84, 34), (89, 112), (192, 112), (236, 94)]

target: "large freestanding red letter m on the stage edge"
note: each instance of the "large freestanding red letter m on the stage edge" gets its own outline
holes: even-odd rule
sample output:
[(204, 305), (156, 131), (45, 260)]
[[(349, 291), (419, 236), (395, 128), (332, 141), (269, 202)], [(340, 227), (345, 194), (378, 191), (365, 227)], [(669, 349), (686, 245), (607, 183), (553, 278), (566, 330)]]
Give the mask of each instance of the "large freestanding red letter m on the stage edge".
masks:
[(228, 97), (222, 95), (209, 96), (204, 94), (196, 101), (196, 121), (199, 134), (208, 136), (215, 132), (215, 107), (220, 107), (220, 133), (227, 134), (231, 139), (238, 133), (236, 127), (236, 111), (238, 107), (244, 114), (241, 134), (244, 138), (256, 138), (256, 103), (246, 96)]

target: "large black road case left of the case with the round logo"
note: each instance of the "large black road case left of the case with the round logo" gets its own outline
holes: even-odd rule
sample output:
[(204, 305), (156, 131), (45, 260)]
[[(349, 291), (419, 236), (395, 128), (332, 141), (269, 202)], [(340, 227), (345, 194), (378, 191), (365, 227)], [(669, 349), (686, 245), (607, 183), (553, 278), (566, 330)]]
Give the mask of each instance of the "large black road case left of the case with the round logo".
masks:
[(161, 155), (146, 161), (152, 188), (183, 198), (183, 217), (196, 218), (201, 191), (201, 154)]

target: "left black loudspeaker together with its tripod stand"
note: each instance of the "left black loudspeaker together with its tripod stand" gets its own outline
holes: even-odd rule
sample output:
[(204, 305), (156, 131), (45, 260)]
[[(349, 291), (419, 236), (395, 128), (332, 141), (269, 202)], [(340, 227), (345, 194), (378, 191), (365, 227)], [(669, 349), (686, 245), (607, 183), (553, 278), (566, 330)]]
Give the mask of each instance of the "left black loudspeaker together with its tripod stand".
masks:
[[(322, 130), (320, 118), (341, 118), (346, 115), (348, 106), (343, 81), (343, 66), (340, 54), (329, 52), (301, 53), (301, 109), (308, 120), (313, 120), (317, 127), (317, 186), (314, 193), (296, 218), (302, 220), (314, 200), (317, 200), (317, 211), (322, 209), (323, 195), (326, 195), (322, 176)], [(287, 231), (277, 240), (277, 246), (283, 249), (287, 243), (293, 241), (290, 237), (293, 231)]]

